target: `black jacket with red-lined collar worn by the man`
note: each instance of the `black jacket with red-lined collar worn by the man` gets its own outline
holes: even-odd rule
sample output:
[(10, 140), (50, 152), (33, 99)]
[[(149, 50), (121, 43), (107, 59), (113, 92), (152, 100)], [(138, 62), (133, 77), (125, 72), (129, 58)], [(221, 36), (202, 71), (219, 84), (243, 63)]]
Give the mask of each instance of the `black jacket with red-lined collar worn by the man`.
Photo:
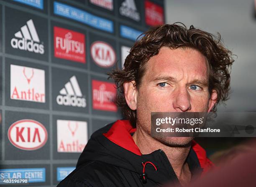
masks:
[[(76, 169), (57, 187), (151, 187), (179, 182), (162, 150), (142, 155), (127, 120), (118, 120), (92, 134)], [(212, 163), (195, 141), (187, 157), (192, 176)]]

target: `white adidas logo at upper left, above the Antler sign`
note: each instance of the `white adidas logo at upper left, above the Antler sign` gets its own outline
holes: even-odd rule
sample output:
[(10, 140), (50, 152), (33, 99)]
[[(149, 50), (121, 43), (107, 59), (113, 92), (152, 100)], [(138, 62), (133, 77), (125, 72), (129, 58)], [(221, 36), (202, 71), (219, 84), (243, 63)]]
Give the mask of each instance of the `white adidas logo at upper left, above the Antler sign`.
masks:
[(15, 49), (44, 54), (44, 45), (39, 44), (40, 40), (33, 20), (28, 20), (20, 30), (14, 34), (16, 38), (12, 38), (11, 46)]

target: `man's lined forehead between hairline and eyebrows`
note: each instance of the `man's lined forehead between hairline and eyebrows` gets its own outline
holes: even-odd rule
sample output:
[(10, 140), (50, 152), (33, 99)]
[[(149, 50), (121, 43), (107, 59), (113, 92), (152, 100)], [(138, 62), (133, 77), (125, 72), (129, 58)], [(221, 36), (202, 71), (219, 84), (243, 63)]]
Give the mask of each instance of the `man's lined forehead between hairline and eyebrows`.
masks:
[(177, 79), (206, 79), (207, 59), (192, 48), (161, 47), (159, 53), (148, 60), (146, 69), (146, 75), (150, 77), (166, 75)]

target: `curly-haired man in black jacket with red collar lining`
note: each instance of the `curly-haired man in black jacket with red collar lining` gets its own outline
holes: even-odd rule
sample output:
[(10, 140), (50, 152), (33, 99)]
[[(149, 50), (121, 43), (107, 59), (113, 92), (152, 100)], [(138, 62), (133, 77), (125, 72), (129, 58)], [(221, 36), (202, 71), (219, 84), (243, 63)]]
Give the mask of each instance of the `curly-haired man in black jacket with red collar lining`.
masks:
[(126, 120), (96, 131), (58, 187), (186, 185), (212, 162), (191, 137), (151, 137), (151, 112), (210, 112), (227, 99), (231, 52), (205, 31), (160, 25), (131, 48), (110, 77)]

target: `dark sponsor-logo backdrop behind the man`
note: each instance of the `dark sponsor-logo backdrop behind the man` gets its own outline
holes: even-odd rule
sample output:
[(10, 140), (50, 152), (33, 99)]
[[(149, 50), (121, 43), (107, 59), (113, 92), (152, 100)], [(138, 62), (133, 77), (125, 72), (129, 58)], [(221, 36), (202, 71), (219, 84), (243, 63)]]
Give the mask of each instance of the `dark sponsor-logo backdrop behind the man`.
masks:
[(121, 117), (106, 72), (164, 23), (164, 2), (0, 0), (0, 15), (0, 182), (56, 186), (92, 132)]

